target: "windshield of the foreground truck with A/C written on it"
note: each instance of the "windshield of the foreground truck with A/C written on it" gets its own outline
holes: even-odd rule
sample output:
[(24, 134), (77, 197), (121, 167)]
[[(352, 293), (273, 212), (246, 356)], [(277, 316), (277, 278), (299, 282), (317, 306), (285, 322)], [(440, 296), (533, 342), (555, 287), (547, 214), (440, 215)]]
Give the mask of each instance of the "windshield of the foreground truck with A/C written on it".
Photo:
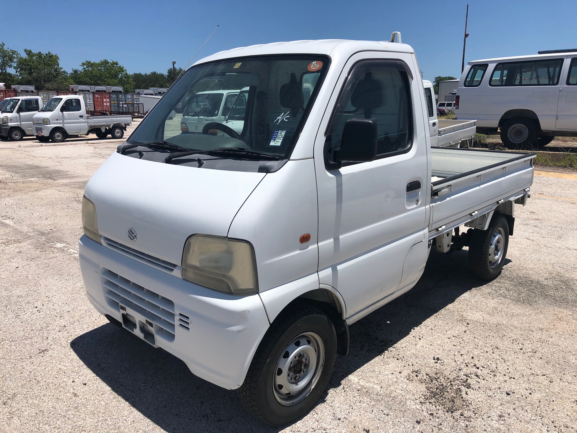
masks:
[(128, 143), (163, 141), (199, 151), (243, 148), (286, 159), (328, 64), (320, 55), (271, 55), (193, 66)]

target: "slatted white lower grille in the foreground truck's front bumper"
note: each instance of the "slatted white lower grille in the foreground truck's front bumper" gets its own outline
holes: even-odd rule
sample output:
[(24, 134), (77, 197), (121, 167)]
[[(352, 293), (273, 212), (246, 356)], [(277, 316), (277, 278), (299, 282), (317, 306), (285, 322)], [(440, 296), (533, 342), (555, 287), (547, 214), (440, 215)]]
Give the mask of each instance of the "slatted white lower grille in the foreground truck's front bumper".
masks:
[(154, 324), (155, 335), (174, 341), (174, 302), (109, 270), (102, 273), (108, 305), (132, 308)]

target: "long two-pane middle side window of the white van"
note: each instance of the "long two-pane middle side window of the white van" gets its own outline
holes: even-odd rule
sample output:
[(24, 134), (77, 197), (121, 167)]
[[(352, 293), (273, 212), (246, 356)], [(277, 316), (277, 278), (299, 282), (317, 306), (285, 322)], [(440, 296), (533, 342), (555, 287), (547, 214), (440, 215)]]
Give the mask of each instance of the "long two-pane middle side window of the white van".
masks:
[(507, 62), (495, 66), (489, 85), (557, 85), (563, 59)]

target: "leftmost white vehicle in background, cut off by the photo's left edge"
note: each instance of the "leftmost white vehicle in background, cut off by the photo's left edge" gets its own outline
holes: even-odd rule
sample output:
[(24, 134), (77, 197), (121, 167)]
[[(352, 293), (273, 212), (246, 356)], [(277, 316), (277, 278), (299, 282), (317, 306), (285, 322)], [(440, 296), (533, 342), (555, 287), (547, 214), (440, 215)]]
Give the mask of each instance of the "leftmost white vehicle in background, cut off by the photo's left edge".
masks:
[(32, 118), (42, 107), (42, 98), (40, 96), (15, 96), (3, 99), (2, 102), (0, 137), (20, 141), (27, 135), (34, 135)]

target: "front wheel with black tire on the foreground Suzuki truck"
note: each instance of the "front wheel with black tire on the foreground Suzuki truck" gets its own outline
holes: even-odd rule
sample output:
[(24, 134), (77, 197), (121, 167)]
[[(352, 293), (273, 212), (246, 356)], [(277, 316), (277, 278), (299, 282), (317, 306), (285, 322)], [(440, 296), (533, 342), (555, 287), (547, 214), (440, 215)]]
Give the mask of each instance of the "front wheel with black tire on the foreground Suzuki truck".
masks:
[[(317, 337), (320, 338), (324, 348), (324, 361), (322, 362), (323, 356), (320, 353), (322, 353), (323, 348), (314, 344), (314, 338)], [(298, 345), (297, 342), (299, 342)], [(304, 352), (295, 353), (298, 350), (310, 350), (313, 347), (316, 348), (315, 353), (319, 356), (315, 356), (316, 369), (309, 372), (310, 365), (307, 367), (308, 364), (306, 363), (308, 361), (312, 363), (312, 356), (306, 357), (305, 354), (304, 357), (301, 357)], [(293, 354), (289, 354), (287, 349), (294, 349)], [(271, 425), (286, 424), (304, 415), (319, 400), (331, 378), (335, 357), (336, 334), (331, 319), (317, 308), (307, 304), (298, 304), (294, 309), (280, 313), (268, 329), (254, 354), (245, 381), (238, 389), (239, 398), (249, 412), (265, 423)], [(290, 365), (286, 368), (287, 377), (285, 379), (285, 371), (283, 368), (279, 368), (279, 365), (288, 362)], [(293, 365), (293, 363), (295, 364)], [(296, 370), (297, 365), (300, 365), (298, 371)], [(320, 373), (317, 375), (319, 371)], [(305, 382), (309, 374), (312, 375), (310, 376), (311, 379)], [(298, 375), (304, 375), (304, 377)], [(283, 390), (282, 385), (279, 387), (279, 383), (276, 382), (279, 380), (290, 381), (291, 378), (293, 380), (291, 385), (304, 386), (304, 388), (294, 395), (288, 393), (286, 394), (288, 397), (285, 397), (280, 391)], [(297, 381), (294, 382), (294, 380)], [(302, 382), (305, 382), (305, 385), (301, 385)], [(279, 391), (275, 391), (275, 386), (278, 387)], [(294, 402), (283, 400), (285, 403), (282, 404), (280, 400), (283, 398), (294, 398)]]

